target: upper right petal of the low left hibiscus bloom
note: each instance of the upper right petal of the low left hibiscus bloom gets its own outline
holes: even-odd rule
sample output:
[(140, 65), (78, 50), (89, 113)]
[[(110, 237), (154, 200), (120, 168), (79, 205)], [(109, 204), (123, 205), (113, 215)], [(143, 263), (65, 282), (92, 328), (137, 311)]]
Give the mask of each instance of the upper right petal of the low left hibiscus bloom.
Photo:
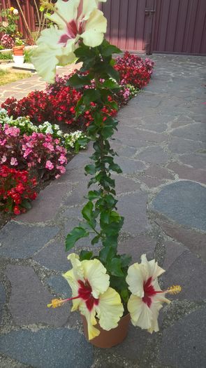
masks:
[(106, 274), (107, 270), (98, 259), (84, 260), (81, 262), (84, 270), (84, 280), (88, 280), (92, 289), (92, 295), (98, 299), (99, 294), (108, 289), (110, 285), (110, 276)]

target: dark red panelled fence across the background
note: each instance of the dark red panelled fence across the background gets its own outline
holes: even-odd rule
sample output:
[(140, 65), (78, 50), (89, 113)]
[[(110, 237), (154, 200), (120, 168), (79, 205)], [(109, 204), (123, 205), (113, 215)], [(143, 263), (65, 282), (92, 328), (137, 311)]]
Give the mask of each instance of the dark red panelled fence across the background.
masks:
[[(0, 0), (1, 8), (17, 7)], [(36, 30), (33, 0), (20, 0), (31, 31)], [(108, 39), (122, 50), (206, 55), (206, 0), (108, 0), (101, 3), (108, 19)], [(20, 32), (29, 36), (20, 17)]]

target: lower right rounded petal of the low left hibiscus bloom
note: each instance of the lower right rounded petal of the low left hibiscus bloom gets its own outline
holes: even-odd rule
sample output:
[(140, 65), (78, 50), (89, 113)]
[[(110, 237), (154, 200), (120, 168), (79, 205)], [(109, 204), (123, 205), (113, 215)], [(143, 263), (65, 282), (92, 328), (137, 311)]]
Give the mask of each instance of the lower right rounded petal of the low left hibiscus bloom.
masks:
[(117, 327), (124, 312), (121, 298), (112, 287), (109, 287), (106, 292), (99, 296), (98, 306), (95, 306), (95, 309), (99, 325), (106, 331)]

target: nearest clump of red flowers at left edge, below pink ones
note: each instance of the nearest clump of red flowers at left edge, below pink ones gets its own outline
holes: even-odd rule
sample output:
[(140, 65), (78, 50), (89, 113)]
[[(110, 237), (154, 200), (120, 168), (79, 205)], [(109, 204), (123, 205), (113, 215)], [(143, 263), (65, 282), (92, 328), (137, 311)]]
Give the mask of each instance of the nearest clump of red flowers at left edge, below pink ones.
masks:
[(27, 170), (15, 170), (2, 165), (0, 168), (0, 210), (20, 214), (31, 208), (37, 196), (36, 178), (30, 179)]

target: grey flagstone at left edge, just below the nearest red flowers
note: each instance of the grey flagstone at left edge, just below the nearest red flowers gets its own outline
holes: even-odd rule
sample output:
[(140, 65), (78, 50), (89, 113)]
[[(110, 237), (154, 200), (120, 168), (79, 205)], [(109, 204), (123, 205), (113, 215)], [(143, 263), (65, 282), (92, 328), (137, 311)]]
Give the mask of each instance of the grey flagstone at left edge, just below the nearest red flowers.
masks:
[(0, 256), (28, 258), (59, 232), (57, 226), (28, 226), (8, 222), (0, 232)]

